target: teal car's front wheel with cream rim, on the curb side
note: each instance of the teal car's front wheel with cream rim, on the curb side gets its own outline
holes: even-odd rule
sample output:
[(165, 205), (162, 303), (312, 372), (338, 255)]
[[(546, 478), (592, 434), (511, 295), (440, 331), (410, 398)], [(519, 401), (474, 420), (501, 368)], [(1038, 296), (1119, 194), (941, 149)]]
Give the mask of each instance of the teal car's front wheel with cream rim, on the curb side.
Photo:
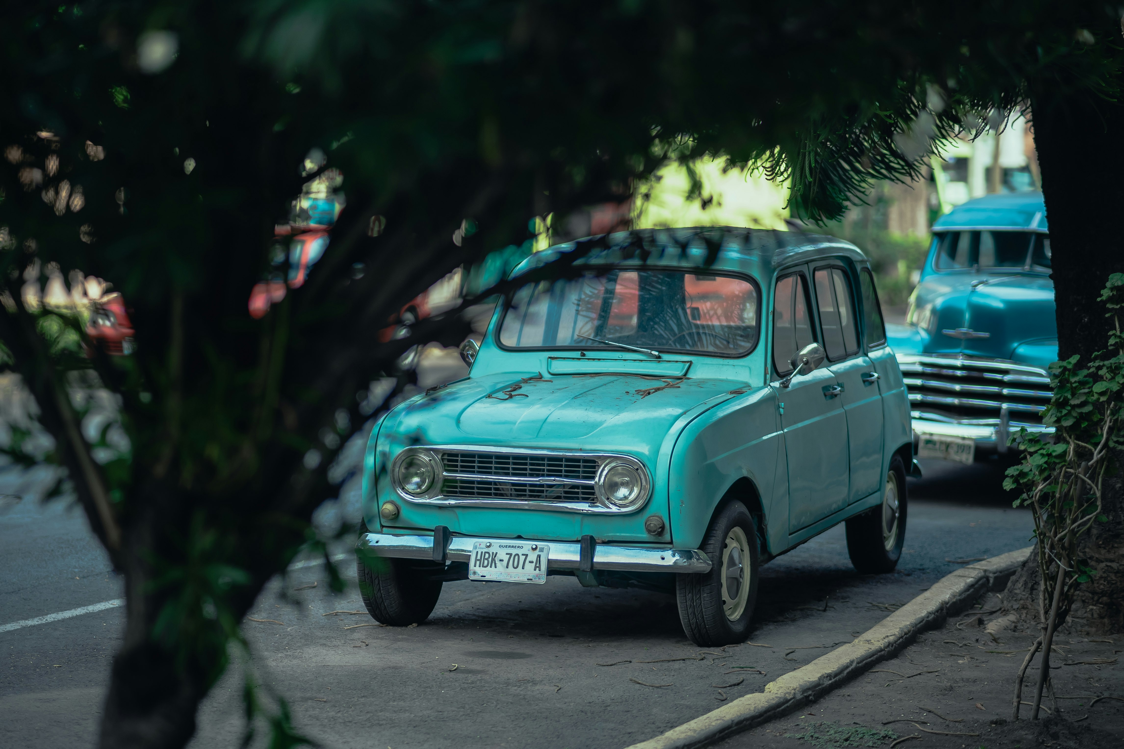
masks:
[[(714, 565), (710, 572), (676, 575), (683, 631), (691, 642), (703, 647), (744, 642), (750, 636), (760, 572), (756, 524), (744, 504), (731, 502), (718, 512), (703, 539), (703, 551)], [(725, 579), (724, 575), (738, 567), (740, 583), (728, 585), (735, 578)]]

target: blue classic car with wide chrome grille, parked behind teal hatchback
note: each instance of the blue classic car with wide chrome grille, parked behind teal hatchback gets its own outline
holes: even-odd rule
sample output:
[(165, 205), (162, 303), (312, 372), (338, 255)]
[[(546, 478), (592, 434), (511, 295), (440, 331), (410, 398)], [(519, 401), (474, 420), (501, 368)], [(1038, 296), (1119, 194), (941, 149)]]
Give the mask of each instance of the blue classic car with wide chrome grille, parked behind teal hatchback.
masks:
[(1052, 431), (1041, 417), (1058, 358), (1042, 193), (988, 195), (937, 219), (906, 325), (888, 328), (919, 457), (971, 463), (1006, 453), (1019, 428)]

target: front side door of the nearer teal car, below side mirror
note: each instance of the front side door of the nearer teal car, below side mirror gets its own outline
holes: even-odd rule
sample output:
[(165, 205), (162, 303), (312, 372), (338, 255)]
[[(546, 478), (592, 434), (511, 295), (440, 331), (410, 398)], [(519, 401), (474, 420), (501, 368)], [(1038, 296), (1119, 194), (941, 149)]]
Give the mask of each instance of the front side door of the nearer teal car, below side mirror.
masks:
[(778, 277), (773, 292), (772, 369), (788, 462), (788, 531), (795, 533), (846, 506), (846, 415), (835, 374), (821, 367), (779, 382), (792, 371), (797, 351), (816, 340), (807, 267)]

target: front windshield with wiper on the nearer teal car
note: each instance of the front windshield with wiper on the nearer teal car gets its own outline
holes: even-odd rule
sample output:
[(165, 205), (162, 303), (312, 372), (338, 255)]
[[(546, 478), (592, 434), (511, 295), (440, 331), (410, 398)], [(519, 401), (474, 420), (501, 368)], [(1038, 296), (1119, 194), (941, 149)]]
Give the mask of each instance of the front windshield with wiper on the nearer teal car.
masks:
[[(758, 290), (744, 278), (611, 271), (515, 292), (499, 342), (508, 348), (616, 349), (743, 356), (758, 342)], [(586, 336), (587, 338), (583, 338)]]

